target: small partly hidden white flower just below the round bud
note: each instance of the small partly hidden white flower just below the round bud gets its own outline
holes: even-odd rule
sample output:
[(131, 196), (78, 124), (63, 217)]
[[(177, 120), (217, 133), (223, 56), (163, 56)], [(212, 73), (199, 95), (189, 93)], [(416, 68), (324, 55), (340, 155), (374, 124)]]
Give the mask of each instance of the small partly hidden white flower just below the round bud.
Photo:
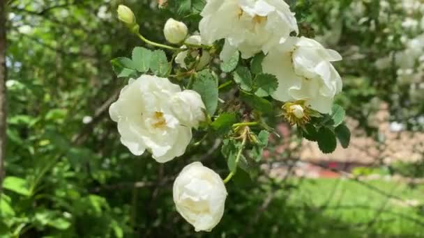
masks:
[[(202, 45), (202, 38), (200, 37), (200, 35), (192, 35), (185, 40), (185, 43), (190, 45), (200, 46)], [(187, 47), (183, 45), (181, 49), (187, 49)], [(185, 58), (187, 58), (189, 53), (190, 52), (188, 50), (179, 52), (179, 54), (177, 54), (175, 57), (175, 63), (178, 63), (181, 68), (187, 69), (188, 65), (185, 63)], [(197, 56), (199, 56), (199, 50), (197, 49), (195, 51), (192, 51), (191, 54), (193, 58), (196, 58)], [(199, 63), (197, 63), (196, 70), (201, 70), (206, 65), (208, 65), (210, 61), (211, 61), (211, 54), (209, 54), (209, 51), (202, 50), (202, 56), (199, 56)]]

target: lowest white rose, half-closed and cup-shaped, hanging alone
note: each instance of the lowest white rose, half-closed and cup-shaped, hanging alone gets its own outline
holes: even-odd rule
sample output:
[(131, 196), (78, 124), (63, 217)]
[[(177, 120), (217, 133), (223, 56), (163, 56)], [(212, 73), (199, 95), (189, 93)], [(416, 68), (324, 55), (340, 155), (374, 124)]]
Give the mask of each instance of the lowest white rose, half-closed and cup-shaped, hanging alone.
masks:
[(224, 214), (227, 189), (220, 175), (194, 162), (176, 177), (173, 196), (176, 210), (197, 232), (211, 231)]

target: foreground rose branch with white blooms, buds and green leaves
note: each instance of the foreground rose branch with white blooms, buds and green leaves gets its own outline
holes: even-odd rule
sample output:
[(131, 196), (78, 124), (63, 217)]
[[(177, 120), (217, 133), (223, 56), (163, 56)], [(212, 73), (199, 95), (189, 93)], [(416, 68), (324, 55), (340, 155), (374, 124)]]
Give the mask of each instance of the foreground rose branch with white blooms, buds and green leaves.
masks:
[[(109, 113), (123, 145), (135, 155), (149, 150), (161, 163), (184, 154), (193, 127), (200, 136), (193, 147), (211, 136), (223, 138), (229, 175), (222, 180), (195, 162), (181, 171), (173, 189), (181, 216), (196, 231), (211, 231), (224, 213), (224, 184), (239, 168), (254, 176), (252, 164), (262, 159), (273, 132), (267, 116), (284, 116), (326, 153), (335, 150), (336, 136), (346, 148), (350, 133), (342, 107), (333, 105), (342, 81), (331, 62), (342, 57), (310, 38), (289, 36), (298, 26), (287, 3), (210, 0), (201, 15), (200, 35), (188, 38), (183, 22), (167, 20), (165, 38), (179, 47), (147, 40), (123, 21), (147, 44), (171, 51), (172, 59), (143, 47), (136, 47), (131, 59), (114, 59), (119, 77), (142, 76), (130, 79)], [(241, 60), (239, 52), (252, 60)]]

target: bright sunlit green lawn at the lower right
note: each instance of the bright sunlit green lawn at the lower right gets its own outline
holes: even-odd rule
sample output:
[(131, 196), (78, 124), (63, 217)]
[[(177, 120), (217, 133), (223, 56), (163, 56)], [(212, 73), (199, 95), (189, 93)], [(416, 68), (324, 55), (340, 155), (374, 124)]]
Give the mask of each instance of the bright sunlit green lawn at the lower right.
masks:
[[(300, 182), (300, 180), (296, 181)], [(296, 184), (295, 182), (295, 184)], [(424, 205), (424, 186), (367, 181), (380, 191)], [(411, 207), (351, 180), (303, 180), (288, 205), (305, 212), (305, 225), (316, 230), (304, 237), (424, 237), (423, 206)]]

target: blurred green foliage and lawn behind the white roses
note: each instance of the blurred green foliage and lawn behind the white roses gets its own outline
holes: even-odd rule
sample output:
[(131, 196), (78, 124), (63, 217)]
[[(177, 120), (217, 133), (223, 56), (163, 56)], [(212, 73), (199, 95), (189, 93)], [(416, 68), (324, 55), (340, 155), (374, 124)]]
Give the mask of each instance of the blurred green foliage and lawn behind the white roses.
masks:
[[(345, 84), (338, 102), (358, 128), (379, 138), (370, 118), (384, 101), (392, 121), (423, 131), (423, 1), (287, 2), (301, 34), (315, 35), (344, 56), (336, 65)], [(121, 145), (107, 110), (126, 81), (116, 79), (109, 61), (130, 56), (142, 42), (117, 21), (120, 3), (134, 10), (144, 35), (165, 42), (166, 19), (183, 20), (194, 32), (204, 1), (169, 0), (164, 8), (154, 0), (8, 1), (0, 237), (424, 236), (423, 206), (391, 203), (414, 198), (422, 204), (420, 184), (309, 180), (290, 173), (275, 179), (267, 170), (252, 178), (238, 173), (228, 184), (220, 224), (209, 234), (195, 234), (174, 209), (172, 182), (197, 160), (224, 176), (221, 141), (210, 136), (166, 165), (148, 154), (134, 157)], [(282, 139), (298, 143), (295, 133)], [(298, 150), (286, 148), (262, 163), (291, 166)], [(422, 162), (392, 167), (423, 177)]]

